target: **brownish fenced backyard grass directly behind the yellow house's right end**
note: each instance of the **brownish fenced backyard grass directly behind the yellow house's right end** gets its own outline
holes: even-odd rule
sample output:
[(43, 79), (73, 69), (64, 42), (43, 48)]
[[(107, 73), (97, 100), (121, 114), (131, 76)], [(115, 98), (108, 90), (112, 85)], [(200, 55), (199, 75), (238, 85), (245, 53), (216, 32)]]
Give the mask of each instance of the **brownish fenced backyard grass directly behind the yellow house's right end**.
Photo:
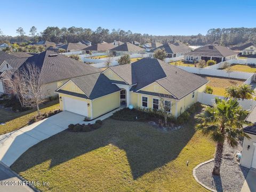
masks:
[(244, 79), (231, 79), (225, 77), (213, 77), (213, 76), (206, 76), (201, 75), (202, 77), (208, 79), (210, 82), (207, 84), (212, 87), (213, 92), (212, 94), (226, 96), (225, 89), (230, 85), (240, 85), (243, 84), (245, 81)]

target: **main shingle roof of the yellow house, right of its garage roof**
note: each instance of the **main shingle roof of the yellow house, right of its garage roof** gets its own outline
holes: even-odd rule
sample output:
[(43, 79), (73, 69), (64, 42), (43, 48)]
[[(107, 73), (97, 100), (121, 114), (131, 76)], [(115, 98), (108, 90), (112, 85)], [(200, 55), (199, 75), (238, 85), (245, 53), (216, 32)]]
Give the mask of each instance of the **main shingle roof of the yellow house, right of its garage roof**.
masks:
[(181, 99), (195, 91), (208, 81), (195, 74), (188, 73), (158, 59), (141, 59), (127, 65), (110, 67), (124, 81), (133, 85), (132, 91), (157, 82), (175, 98)]

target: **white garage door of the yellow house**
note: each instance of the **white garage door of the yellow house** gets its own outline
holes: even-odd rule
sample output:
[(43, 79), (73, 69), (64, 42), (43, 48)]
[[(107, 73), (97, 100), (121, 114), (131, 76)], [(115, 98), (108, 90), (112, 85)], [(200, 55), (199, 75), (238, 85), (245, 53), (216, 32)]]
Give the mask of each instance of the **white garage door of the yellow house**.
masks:
[(80, 115), (88, 116), (87, 102), (63, 97), (63, 109), (77, 113)]

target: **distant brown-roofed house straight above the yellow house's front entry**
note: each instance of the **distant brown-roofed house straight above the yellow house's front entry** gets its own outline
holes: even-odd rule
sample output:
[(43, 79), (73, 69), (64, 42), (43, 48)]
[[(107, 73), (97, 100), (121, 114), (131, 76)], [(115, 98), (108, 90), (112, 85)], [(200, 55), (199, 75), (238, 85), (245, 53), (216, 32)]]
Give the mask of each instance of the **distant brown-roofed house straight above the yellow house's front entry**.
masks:
[(114, 56), (120, 56), (124, 54), (134, 54), (134, 53), (143, 54), (143, 53), (146, 53), (146, 51), (143, 50), (141, 47), (133, 45), (131, 43), (124, 43), (122, 45), (119, 45), (109, 50), (109, 53)]

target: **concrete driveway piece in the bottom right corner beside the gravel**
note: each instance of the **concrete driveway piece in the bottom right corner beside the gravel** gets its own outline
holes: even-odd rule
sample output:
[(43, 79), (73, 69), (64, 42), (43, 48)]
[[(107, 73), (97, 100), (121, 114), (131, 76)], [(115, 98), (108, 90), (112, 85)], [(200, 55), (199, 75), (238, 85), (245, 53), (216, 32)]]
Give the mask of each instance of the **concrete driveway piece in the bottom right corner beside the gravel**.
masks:
[(256, 170), (250, 169), (241, 192), (256, 191)]

